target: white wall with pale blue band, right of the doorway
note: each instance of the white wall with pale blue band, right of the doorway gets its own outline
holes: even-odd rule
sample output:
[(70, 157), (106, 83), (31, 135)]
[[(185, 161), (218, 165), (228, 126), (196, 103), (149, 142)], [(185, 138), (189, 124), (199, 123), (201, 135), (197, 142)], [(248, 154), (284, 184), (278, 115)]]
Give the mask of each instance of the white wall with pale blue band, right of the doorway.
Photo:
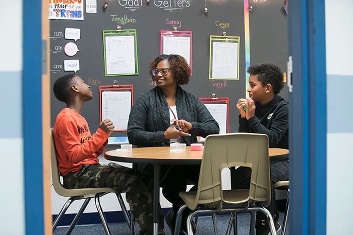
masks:
[(327, 234), (352, 234), (353, 1), (325, 0)]

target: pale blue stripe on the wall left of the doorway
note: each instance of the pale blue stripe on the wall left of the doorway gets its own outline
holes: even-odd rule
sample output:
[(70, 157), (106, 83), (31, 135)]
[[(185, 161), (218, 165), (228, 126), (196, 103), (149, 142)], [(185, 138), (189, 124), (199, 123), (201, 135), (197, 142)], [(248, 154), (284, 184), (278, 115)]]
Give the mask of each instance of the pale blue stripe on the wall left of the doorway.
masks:
[[(4, 81), (16, 84), (15, 88), (0, 86), (2, 115), (0, 115), (0, 138), (22, 138), (22, 71), (0, 71)], [(16, 125), (14, 125), (16, 123)]]

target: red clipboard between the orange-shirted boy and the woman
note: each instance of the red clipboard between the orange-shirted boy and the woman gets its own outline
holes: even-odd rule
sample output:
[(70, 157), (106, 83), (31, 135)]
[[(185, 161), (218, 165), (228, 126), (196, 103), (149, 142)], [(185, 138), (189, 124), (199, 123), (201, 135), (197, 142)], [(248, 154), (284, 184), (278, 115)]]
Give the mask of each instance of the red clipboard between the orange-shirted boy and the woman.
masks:
[(99, 86), (99, 120), (110, 119), (113, 131), (127, 131), (134, 85)]

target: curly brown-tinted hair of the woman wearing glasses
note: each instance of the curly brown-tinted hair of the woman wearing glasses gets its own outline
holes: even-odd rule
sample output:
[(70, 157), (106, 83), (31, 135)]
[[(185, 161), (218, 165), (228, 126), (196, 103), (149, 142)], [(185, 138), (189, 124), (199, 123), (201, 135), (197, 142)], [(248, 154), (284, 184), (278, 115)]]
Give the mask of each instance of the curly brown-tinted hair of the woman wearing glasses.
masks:
[(168, 60), (170, 68), (173, 71), (175, 82), (177, 82), (179, 85), (188, 84), (190, 81), (191, 71), (189, 64), (183, 56), (175, 54), (158, 55), (151, 61), (149, 66), (149, 74), (151, 75), (152, 80), (154, 79), (154, 76), (152, 75), (152, 70), (156, 68), (157, 64), (160, 61), (165, 59)]

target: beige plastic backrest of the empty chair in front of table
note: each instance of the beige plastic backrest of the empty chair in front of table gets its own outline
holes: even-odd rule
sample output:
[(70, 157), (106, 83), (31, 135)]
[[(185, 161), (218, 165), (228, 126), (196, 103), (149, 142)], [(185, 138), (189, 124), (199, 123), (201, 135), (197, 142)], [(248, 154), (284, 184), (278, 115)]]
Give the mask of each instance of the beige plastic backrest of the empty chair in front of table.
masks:
[(268, 137), (254, 133), (216, 134), (206, 137), (196, 195), (198, 204), (222, 208), (224, 200), (221, 172), (224, 168), (234, 166), (252, 169), (248, 200), (269, 205), (271, 184)]

